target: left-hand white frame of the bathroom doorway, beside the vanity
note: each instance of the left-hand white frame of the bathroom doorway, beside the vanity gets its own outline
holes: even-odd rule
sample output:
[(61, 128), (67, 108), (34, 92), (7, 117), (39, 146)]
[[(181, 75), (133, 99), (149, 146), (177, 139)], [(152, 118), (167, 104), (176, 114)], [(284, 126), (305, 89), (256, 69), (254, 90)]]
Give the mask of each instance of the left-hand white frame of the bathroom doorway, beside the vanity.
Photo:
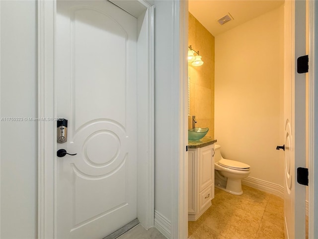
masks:
[(188, 238), (188, 0), (173, 1), (173, 77), (179, 79), (172, 91), (178, 99), (174, 119), (178, 126), (174, 132), (178, 143), (174, 147), (172, 165), (172, 222), (171, 239)]

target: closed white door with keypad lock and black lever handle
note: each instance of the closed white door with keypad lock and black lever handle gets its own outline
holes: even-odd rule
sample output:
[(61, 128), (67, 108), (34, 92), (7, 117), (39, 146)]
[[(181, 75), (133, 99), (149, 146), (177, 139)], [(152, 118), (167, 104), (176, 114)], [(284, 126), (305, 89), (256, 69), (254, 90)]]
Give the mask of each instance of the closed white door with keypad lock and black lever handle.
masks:
[(57, 1), (57, 238), (100, 239), (137, 218), (137, 19), (103, 1)]

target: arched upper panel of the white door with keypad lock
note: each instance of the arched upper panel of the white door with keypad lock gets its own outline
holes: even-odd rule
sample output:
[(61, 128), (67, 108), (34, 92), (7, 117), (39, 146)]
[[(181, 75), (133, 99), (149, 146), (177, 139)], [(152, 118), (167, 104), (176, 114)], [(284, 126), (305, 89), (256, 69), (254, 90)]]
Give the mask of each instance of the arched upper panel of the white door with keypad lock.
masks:
[[(126, 111), (116, 109), (126, 108), (127, 33), (115, 20), (98, 10), (82, 7), (73, 14), (74, 127), (78, 130), (93, 119), (113, 119), (125, 125)], [(92, 27), (95, 22), (99, 24)]]

